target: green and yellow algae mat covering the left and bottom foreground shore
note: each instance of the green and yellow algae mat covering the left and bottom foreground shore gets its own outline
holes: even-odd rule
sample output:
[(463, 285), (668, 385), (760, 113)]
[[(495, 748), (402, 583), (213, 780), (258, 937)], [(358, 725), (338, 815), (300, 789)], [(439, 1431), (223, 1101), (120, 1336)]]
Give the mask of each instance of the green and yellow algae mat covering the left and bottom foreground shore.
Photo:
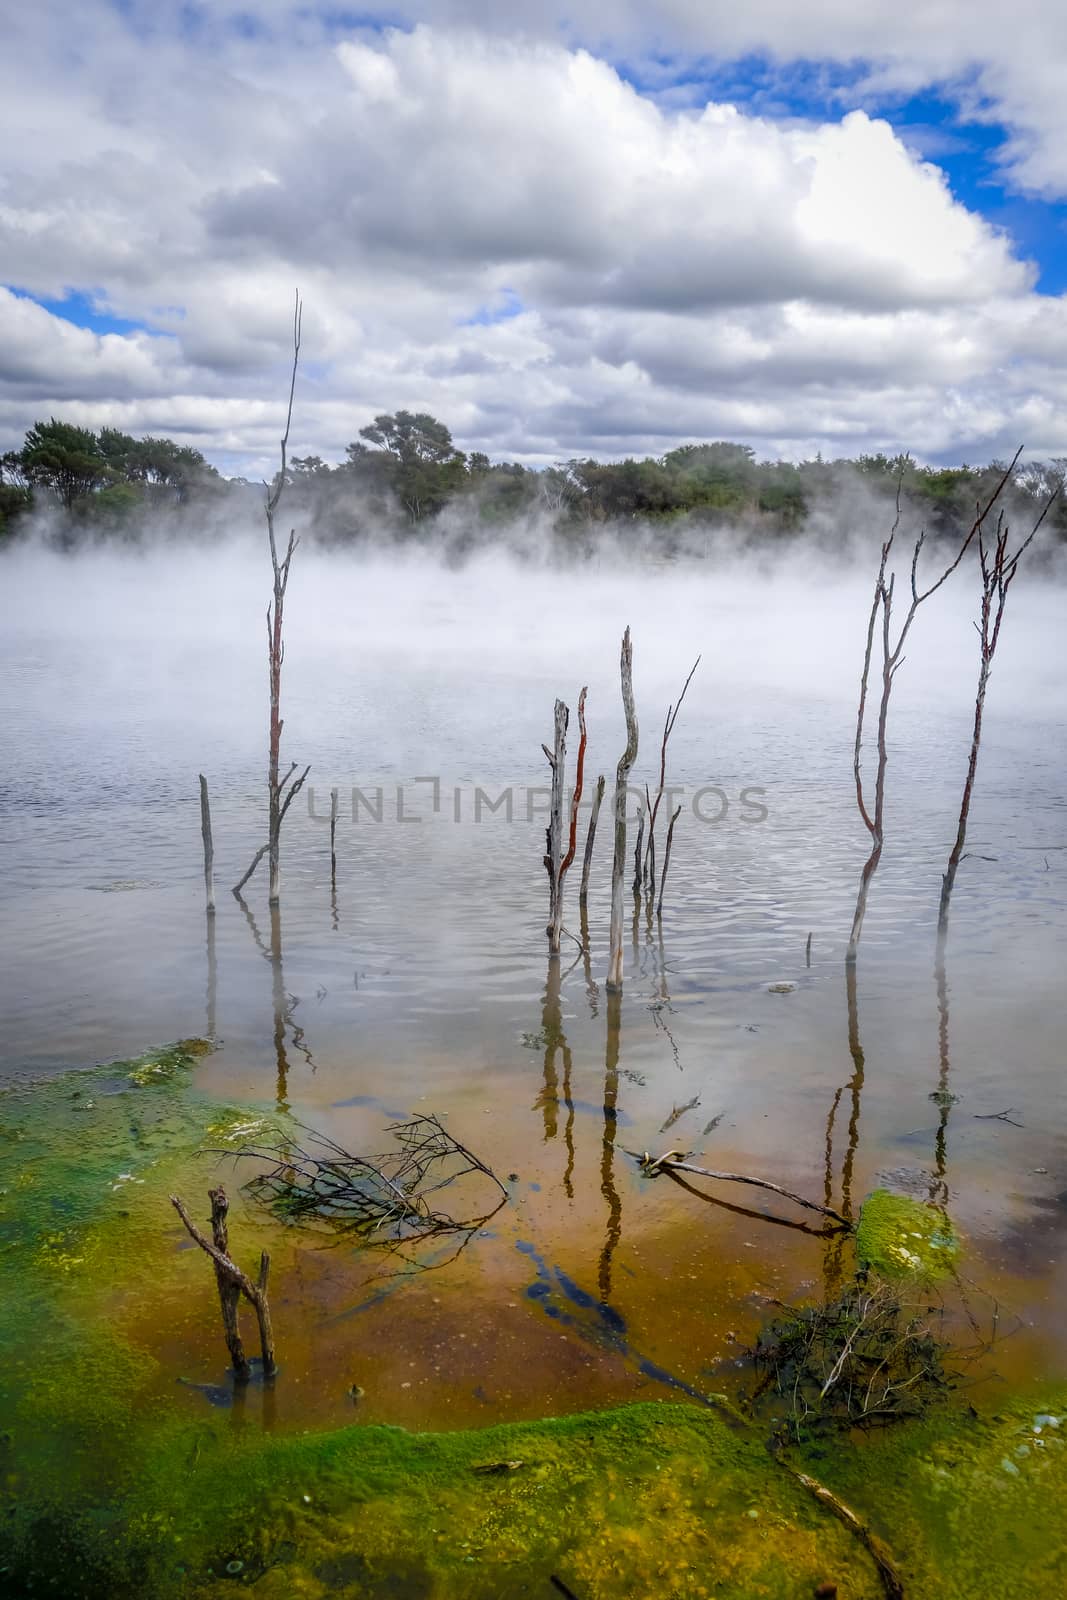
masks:
[[(258, 1386), (226, 1413), (190, 1410), (115, 1306), (202, 1270), (168, 1194), (205, 1144), (235, 1149), (277, 1117), (202, 1098), (176, 1048), (0, 1096), (0, 1592), (518, 1600), (558, 1574), (581, 1600), (881, 1594), (867, 1552), (726, 1403), (437, 1435), (272, 1434)], [(985, 1422), (945, 1410), (798, 1459), (897, 1554), (910, 1594), (1057, 1594), (1065, 1414), (1067, 1395)]]

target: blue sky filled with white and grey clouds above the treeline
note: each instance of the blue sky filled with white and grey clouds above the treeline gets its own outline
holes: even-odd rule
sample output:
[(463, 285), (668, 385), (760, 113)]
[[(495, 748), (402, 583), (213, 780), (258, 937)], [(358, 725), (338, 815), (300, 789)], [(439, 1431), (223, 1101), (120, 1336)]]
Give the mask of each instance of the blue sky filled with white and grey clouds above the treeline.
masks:
[(0, 451), (272, 470), (1067, 456), (1057, 0), (42, 0), (0, 54)]

